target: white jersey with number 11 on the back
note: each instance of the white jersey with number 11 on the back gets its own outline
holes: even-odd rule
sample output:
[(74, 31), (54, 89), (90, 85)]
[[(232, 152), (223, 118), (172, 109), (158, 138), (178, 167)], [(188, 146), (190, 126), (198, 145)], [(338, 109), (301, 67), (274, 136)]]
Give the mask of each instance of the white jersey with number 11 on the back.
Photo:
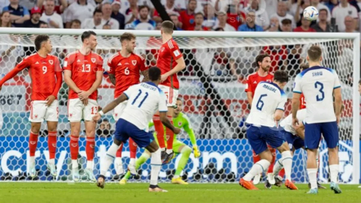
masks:
[(123, 94), (127, 96), (128, 102), (119, 118), (146, 132), (148, 132), (148, 124), (156, 111), (168, 111), (164, 92), (152, 82), (130, 86)]

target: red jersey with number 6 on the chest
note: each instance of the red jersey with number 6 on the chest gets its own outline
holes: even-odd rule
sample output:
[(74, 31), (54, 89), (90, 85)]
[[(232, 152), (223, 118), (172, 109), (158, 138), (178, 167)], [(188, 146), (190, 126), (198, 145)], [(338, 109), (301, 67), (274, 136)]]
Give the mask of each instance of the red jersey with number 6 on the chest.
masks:
[(129, 57), (123, 57), (120, 52), (108, 60), (109, 74), (115, 75), (116, 85), (114, 98), (120, 96), (130, 86), (138, 84), (140, 71), (147, 70), (142, 56), (131, 53)]

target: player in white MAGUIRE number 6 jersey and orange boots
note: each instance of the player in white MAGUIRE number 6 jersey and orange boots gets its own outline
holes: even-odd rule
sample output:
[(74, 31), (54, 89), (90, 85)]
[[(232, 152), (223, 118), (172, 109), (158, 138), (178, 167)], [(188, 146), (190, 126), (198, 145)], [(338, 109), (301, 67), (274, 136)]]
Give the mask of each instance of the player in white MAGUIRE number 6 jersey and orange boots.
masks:
[(272, 154), (267, 143), (277, 148), (282, 154), (278, 161), (282, 163), (286, 173), (286, 187), (297, 190), (291, 181), (292, 154), (287, 141), (279, 132), (276, 122), (279, 121), (284, 112), (284, 105), (287, 96), (282, 90), (288, 82), (288, 74), (285, 71), (277, 70), (274, 73), (273, 82), (260, 82), (255, 90), (252, 108), (246, 123), (250, 124), (247, 129), (248, 141), (261, 160), (253, 165), (251, 170), (240, 179), (239, 184), (248, 190), (258, 190), (251, 182), (252, 178), (267, 169), (272, 161)]

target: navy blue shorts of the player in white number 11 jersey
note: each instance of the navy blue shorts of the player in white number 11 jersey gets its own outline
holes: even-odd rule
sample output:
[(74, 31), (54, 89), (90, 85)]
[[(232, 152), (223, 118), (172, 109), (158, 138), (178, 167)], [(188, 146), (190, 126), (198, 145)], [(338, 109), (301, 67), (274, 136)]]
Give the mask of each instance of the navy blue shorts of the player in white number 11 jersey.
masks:
[(132, 138), (139, 147), (147, 147), (154, 140), (151, 132), (140, 130), (137, 126), (119, 118), (116, 124), (114, 138), (126, 143), (129, 137)]

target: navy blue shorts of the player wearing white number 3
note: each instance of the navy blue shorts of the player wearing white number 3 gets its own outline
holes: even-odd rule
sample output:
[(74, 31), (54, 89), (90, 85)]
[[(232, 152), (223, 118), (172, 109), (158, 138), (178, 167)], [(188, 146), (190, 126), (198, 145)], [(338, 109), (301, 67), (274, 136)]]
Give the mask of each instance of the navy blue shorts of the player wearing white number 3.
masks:
[(324, 122), (305, 124), (305, 148), (317, 149), (319, 141), (321, 140), (321, 134), (325, 138), (328, 148), (335, 148), (338, 146), (338, 127), (337, 122)]

